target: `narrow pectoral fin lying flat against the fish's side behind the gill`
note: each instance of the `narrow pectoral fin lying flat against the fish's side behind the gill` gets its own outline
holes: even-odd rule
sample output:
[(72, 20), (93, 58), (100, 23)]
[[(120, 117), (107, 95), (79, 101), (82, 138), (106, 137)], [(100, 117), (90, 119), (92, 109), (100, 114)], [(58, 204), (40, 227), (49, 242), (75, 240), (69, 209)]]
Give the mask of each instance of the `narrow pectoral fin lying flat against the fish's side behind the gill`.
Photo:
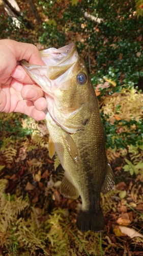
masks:
[(69, 133), (63, 133), (62, 138), (72, 159), (78, 165), (78, 151), (72, 137), (69, 135)]

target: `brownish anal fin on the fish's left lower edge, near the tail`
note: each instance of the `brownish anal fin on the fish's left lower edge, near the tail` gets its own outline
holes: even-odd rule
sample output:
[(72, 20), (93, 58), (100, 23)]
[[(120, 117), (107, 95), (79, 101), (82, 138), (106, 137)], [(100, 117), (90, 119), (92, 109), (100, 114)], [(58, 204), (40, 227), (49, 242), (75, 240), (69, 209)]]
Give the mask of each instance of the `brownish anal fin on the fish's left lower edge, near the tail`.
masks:
[(60, 193), (67, 198), (76, 199), (79, 197), (77, 188), (70, 182), (66, 175), (63, 177), (61, 183)]

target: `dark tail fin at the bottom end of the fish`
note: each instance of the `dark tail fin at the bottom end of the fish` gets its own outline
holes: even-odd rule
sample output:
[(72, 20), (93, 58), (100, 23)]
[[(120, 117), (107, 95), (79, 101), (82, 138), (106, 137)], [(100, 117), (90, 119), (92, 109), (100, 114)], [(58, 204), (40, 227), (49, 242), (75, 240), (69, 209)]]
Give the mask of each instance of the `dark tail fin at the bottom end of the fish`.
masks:
[(93, 232), (102, 232), (104, 229), (104, 217), (102, 210), (98, 213), (90, 214), (82, 210), (78, 212), (76, 226), (81, 232), (91, 230)]

